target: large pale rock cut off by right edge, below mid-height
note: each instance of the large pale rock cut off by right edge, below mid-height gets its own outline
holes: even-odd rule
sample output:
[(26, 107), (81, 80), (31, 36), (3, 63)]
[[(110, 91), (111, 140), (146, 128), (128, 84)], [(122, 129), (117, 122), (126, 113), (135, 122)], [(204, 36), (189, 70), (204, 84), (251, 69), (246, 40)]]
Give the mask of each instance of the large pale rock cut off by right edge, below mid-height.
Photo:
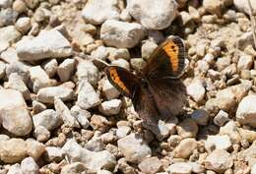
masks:
[(256, 128), (256, 95), (245, 96), (236, 110), (236, 119), (241, 124)]

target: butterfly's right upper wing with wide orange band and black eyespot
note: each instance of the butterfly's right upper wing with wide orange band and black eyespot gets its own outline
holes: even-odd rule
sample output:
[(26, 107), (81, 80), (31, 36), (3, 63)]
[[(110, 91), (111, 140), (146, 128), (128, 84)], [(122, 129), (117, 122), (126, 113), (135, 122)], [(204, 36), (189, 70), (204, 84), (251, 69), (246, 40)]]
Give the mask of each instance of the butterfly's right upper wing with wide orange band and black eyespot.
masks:
[(178, 77), (185, 65), (185, 46), (178, 36), (168, 37), (149, 58), (144, 74), (148, 79)]

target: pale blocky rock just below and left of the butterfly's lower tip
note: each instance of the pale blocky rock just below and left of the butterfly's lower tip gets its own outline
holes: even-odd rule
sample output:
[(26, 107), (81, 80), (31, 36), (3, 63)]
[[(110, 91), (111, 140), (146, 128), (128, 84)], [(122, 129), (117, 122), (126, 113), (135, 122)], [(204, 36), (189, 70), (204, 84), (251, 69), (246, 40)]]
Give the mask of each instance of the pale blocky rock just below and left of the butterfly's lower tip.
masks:
[(140, 163), (152, 153), (150, 146), (139, 135), (133, 133), (118, 140), (117, 145), (125, 159), (132, 163)]

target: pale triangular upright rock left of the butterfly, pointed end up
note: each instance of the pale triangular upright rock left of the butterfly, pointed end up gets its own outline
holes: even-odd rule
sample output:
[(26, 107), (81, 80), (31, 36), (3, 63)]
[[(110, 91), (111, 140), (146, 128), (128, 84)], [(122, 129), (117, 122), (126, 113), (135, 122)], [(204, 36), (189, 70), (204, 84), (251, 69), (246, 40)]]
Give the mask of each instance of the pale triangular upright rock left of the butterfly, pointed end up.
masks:
[(77, 105), (82, 109), (89, 109), (98, 104), (100, 104), (100, 99), (95, 88), (86, 80), (80, 81)]

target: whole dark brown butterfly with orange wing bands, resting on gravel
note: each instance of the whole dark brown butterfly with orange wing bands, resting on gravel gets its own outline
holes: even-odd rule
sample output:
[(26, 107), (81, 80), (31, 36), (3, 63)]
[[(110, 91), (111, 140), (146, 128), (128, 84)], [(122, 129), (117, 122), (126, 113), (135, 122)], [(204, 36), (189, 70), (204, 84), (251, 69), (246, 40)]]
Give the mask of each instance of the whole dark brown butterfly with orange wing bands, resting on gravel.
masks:
[(136, 75), (109, 66), (109, 82), (132, 99), (145, 126), (158, 134), (159, 120), (177, 115), (185, 104), (186, 89), (179, 80), (186, 57), (185, 46), (178, 36), (163, 41), (149, 58), (148, 65)]

